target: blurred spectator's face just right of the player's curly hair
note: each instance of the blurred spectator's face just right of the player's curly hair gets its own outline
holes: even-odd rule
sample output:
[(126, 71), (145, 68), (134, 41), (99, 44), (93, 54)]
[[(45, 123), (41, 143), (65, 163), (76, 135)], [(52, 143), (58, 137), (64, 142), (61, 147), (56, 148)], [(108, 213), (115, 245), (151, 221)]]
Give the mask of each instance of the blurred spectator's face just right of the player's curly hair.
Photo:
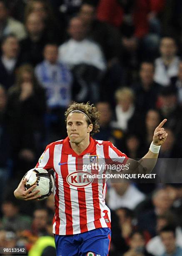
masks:
[(111, 109), (110, 105), (107, 102), (98, 102), (96, 105), (97, 110), (100, 112), (99, 123), (102, 126), (107, 125), (111, 120)]

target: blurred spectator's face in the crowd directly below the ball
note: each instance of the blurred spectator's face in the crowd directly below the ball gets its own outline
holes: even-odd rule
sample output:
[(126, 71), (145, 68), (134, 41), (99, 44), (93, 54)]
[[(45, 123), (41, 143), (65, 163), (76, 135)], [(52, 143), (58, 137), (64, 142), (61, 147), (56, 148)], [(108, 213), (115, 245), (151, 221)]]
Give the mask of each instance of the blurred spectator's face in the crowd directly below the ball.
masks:
[(45, 228), (48, 218), (47, 210), (45, 209), (37, 209), (33, 214), (33, 224), (38, 228)]

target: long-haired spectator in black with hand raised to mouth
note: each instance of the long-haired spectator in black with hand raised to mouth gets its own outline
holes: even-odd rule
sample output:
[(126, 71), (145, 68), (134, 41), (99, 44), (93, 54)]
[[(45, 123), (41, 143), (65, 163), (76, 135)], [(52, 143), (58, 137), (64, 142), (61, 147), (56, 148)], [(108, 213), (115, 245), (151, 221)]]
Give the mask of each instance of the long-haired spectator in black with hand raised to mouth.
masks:
[(45, 111), (45, 91), (37, 83), (33, 68), (27, 64), (21, 66), (7, 101), (8, 131), (15, 164), (13, 175), (16, 178), (22, 177), (25, 168), (31, 169), (41, 150)]

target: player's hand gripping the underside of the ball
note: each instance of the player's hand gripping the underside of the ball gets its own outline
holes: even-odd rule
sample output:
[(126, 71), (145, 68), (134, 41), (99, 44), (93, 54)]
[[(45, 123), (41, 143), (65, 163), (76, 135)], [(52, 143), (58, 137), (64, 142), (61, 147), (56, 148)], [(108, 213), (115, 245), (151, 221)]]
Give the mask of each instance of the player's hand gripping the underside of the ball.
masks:
[(27, 179), (22, 179), (20, 184), (18, 185), (17, 189), (14, 191), (14, 195), (17, 199), (20, 200), (35, 200), (41, 197), (40, 195), (37, 195), (40, 190), (36, 190), (35, 192), (30, 193), (33, 189), (35, 189), (36, 185), (33, 185), (29, 189), (25, 189), (25, 183), (27, 182)]

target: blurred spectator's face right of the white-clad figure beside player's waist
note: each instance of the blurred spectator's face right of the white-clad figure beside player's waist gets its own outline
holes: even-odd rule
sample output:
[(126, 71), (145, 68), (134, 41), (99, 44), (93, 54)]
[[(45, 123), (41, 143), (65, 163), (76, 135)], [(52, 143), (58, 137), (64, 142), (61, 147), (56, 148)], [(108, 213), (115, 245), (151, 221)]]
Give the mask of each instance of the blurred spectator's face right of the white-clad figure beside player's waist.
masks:
[(164, 214), (172, 206), (173, 200), (166, 189), (160, 189), (153, 197), (153, 204), (158, 214)]

